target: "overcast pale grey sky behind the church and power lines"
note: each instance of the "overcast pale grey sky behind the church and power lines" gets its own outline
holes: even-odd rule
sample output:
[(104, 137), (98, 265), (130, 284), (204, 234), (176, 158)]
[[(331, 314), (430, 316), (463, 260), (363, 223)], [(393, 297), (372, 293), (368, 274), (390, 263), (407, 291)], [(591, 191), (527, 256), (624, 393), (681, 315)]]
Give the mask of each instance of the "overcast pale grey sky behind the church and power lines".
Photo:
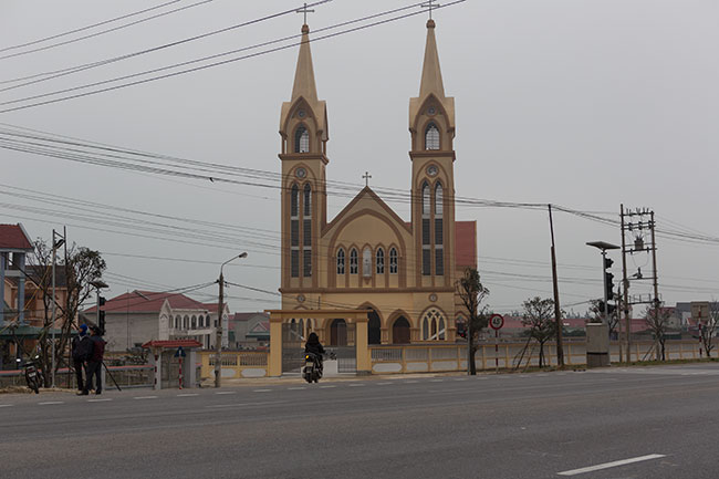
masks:
[[(197, 1), (178, 1), (74, 35), (6, 50), (0, 56)], [(0, 49), (160, 3), (3, 0)], [(308, 23), (314, 31), (409, 3), (334, 0), (315, 7)], [(145, 50), (299, 4), (209, 1), (92, 39), (0, 59), (0, 81)], [(440, 9), (434, 17), (446, 94), (456, 98), (457, 106), (458, 196), (552, 202), (612, 219), (618, 219), (624, 202), (653, 208), (658, 227), (665, 230), (719, 237), (719, 2), (468, 0)], [(368, 170), (372, 187), (409, 190), (407, 111), (409, 97), (419, 91), (426, 20), (426, 14), (419, 14), (312, 44), (319, 97), (327, 102), (329, 110), (330, 181), (353, 183), (358, 191), (364, 186), (362, 175)], [(279, 17), (0, 92), (0, 102), (275, 40), (299, 33), (301, 24), (300, 14)], [(0, 122), (279, 173), (280, 107), (290, 100), (296, 54), (293, 46), (142, 85), (0, 113)], [(17, 84), (1, 83), (0, 88)], [(0, 105), (0, 110), (8, 106)], [(108, 296), (213, 281), (219, 263), (241, 251), (249, 257), (226, 268), (228, 281), (268, 291), (279, 287), (277, 188), (129, 173), (8, 149), (0, 149), (0, 222), (21, 221), (33, 238), (49, 238), (53, 228), (67, 225), (71, 241), (104, 253)], [(119, 228), (92, 218), (70, 219), (56, 212), (72, 211), (65, 201), (40, 204), (8, 195), (12, 190), (7, 186), (102, 202), (113, 207), (105, 209), (108, 218), (140, 218), (115, 209), (127, 208), (191, 221), (163, 220), (176, 229), (150, 233), (139, 231), (135, 222)], [(331, 196), (330, 218), (350, 199)], [(409, 220), (406, 204), (390, 206)], [(456, 219), (478, 223), (479, 270), (491, 291), (490, 306), (507, 312), (519, 309), (529, 296), (551, 296), (546, 211), (461, 205)], [(204, 226), (199, 220), (232, 229)], [(602, 295), (600, 254), (585, 242), (619, 243), (619, 229), (564, 212), (555, 212), (554, 228), (562, 305), (583, 312), (586, 304), (580, 303)], [(189, 241), (189, 229), (232, 238), (222, 244), (179, 242)], [(667, 303), (719, 296), (717, 242), (659, 238), (658, 248), (660, 293)], [(614, 258), (618, 279), (619, 254)], [(631, 273), (637, 267), (646, 275), (650, 272), (646, 254), (628, 258), (628, 267)], [(649, 283), (633, 284), (634, 293), (649, 291)], [(211, 285), (190, 295), (211, 301), (216, 294), (217, 287)], [(277, 296), (237, 287), (230, 287), (228, 294), (232, 311), (280, 304)]]

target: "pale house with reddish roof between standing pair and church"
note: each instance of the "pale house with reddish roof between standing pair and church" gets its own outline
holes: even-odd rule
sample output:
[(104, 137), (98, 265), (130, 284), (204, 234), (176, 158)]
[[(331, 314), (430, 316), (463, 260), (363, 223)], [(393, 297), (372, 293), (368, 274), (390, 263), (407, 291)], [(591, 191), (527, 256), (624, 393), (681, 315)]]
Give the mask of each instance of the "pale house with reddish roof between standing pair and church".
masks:
[[(217, 334), (217, 304), (206, 304), (185, 294), (132, 291), (107, 300), (105, 311), (105, 341), (108, 351), (139, 347), (152, 340), (197, 340), (202, 347), (215, 347)], [(83, 312), (94, 322), (96, 309)], [(222, 346), (228, 346), (227, 304), (222, 312)]]

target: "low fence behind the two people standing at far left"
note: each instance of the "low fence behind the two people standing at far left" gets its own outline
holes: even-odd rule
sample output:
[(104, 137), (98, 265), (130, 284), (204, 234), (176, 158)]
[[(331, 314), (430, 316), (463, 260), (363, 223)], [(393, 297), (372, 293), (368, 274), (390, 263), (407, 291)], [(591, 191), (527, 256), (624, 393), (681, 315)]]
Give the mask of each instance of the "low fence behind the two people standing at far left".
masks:
[[(105, 388), (110, 389), (117, 385), (125, 389), (131, 387), (152, 387), (153, 366), (149, 365), (129, 365), (129, 366), (107, 366), (110, 374), (105, 372)], [(112, 378), (111, 378), (112, 375)], [(113, 382), (113, 379), (115, 382)], [(25, 386), (25, 375), (23, 371), (0, 371), (0, 387)], [(74, 389), (77, 387), (74, 371), (66, 367), (58, 369), (55, 374), (55, 386)]]

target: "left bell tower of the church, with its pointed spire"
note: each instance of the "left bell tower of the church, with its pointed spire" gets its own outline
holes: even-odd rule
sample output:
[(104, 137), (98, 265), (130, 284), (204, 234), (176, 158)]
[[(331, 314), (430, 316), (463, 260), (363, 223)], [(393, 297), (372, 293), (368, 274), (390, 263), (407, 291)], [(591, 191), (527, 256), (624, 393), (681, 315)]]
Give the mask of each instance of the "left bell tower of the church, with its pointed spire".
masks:
[(325, 166), (327, 111), (317, 100), (310, 51), (310, 28), (302, 25), (302, 42), (294, 73), (292, 98), (282, 103), (282, 281), (281, 288), (317, 287), (319, 238), (326, 223)]

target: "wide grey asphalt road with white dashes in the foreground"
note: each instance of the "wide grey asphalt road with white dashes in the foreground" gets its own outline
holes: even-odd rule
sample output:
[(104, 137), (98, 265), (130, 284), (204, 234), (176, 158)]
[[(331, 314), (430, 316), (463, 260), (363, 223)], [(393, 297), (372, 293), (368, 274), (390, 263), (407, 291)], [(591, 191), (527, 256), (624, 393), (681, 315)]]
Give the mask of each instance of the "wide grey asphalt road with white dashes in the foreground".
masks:
[(718, 437), (715, 364), (0, 396), (3, 479), (715, 479)]

